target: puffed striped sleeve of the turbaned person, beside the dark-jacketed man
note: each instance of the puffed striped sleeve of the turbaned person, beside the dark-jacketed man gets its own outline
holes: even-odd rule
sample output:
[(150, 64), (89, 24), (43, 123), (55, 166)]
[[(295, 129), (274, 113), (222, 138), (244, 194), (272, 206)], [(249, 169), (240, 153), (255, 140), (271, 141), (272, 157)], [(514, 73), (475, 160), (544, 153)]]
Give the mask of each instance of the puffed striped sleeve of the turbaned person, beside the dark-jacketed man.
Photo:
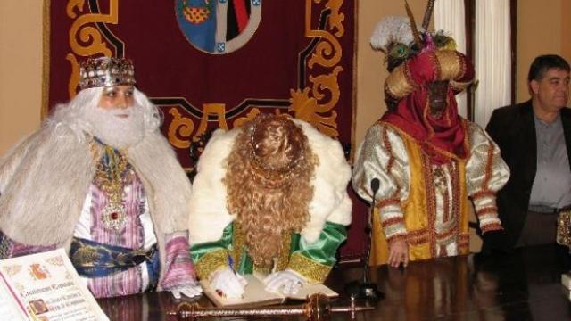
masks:
[(500, 230), (496, 193), (508, 182), (509, 168), (500, 148), (476, 124), (470, 124), (470, 157), (466, 164), (468, 195), (472, 197), (482, 232)]

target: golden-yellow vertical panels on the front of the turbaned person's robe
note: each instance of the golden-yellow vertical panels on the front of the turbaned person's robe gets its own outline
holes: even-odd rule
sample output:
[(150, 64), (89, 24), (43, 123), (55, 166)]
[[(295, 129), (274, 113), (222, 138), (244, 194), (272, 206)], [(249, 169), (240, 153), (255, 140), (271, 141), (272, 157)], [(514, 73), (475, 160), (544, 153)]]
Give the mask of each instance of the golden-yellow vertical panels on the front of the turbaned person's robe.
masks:
[[(434, 191), (437, 188), (431, 173), (428, 158), (423, 154), (416, 141), (401, 136), (410, 161), (410, 194), (401, 202), (404, 224), (407, 229), (410, 260), (431, 259), (436, 256), (437, 236), (435, 219)], [(455, 161), (455, 177), (452, 178), (454, 209), (458, 213), (457, 227), (450, 231), (458, 244), (459, 254), (468, 253), (468, 192), (466, 186), (466, 161)], [(456, 182), (456, 184), (454, 184)], [(378, 211), (378, 209), (376, 209)], [(373, 239), (371, 240), (371, 258), (369, 265), (386, 264), (388, 243), (385, 240), (378, 213), (373, 216)]]

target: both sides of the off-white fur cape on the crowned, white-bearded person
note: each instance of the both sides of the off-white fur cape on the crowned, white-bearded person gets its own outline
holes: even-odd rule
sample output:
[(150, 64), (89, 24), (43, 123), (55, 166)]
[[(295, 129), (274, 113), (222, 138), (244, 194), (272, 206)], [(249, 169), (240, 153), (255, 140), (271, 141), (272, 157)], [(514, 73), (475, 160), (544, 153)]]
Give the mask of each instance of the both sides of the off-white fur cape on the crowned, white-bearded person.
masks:
[[(128, 149), (128, 161), (145, 187), (157, 238), (186, 231), (191, 185), (168, 141), (147, 134)], [(88, 139), (46, 122), (0, 159), (0, 230), (19, 243), (68, 246), (94, 175)]]

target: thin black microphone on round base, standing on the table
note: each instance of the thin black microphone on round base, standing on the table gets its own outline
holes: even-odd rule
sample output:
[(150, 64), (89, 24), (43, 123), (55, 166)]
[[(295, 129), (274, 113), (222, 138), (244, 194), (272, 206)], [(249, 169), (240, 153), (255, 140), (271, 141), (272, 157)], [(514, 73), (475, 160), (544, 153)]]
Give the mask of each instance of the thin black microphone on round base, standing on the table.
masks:
[[(368, 234), (368, 239), (372, 242), (372, 231), (373, 231), (373, 215), (375, 211), (375, 197), (377, 196), (377, 191), (380, 187), (380, 181), (378, 178), (371, 179), (371, 192), (373, 194), (373, 202), (371, 202), (371, 208), (367, 213), (367, 226), (365, 226), (365, 232)], [(368, 260), (371, 256), (371, 244), (367, 247), (367, 258), (363, 262), (363, 277), (362, 281), (352, 281), (345, 285), (345, 292), (351, 297), (360, 300), (368, 300), (372, 302), (377, 302), (383, 299), (385, 294), (377, 289), (377, 284), (371, 283), (369, 281), (369, 271), (368, 271)]]

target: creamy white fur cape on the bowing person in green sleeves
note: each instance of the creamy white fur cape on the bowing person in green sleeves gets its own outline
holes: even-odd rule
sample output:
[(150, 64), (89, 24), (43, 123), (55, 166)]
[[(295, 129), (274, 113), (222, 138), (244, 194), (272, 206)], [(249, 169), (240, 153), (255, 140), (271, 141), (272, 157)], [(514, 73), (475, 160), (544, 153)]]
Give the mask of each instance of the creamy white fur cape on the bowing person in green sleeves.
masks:
[[(352, 202), (346, 191), (351, 167), (345, 161), (339, 142), (319, 133), (306, 122), (293, 120), (302, 128), (311, 151), (319, 158), (319, 166), (311, 182), (310, 221), (302, 230), (305, 241), (313, 243), (319, 238), (326, 221), (344, 226), (351, 224)], [(228, 213), (227, 191), (222, 178), (226, 176), (228, 154), (240, 130), (214, 132), (198, 161), (188, 222), (191, 244), (219, 240), (224, 228), (236, 218), (236, 213)]]

